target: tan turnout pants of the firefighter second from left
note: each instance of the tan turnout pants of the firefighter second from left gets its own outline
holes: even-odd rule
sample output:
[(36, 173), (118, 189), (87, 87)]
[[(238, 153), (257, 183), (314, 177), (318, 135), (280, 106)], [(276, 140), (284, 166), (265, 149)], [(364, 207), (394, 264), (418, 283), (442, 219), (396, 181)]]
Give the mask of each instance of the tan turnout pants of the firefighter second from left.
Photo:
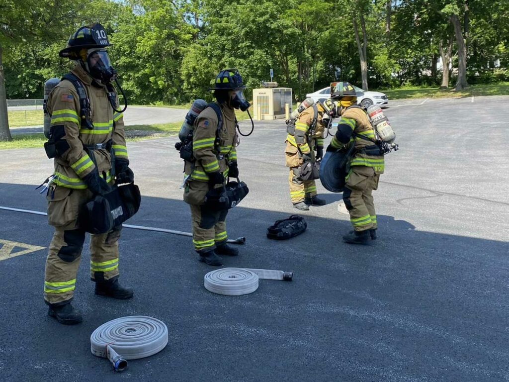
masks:
[(184, 190), (184, 201), (191, 208), (192, 242), (197, 253), (212, 251), (228, 240), (226, 216), (228, 209), (211, 211), (203, 206), (208, 183), (188, 181)]

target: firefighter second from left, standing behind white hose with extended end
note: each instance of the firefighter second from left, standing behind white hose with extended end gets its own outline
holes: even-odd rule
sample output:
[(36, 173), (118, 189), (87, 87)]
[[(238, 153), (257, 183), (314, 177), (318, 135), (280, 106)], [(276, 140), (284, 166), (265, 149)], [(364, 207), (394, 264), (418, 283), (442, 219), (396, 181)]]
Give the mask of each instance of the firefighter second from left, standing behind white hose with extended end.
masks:
[[(228, 206), (219, 199), (226, 179), (238, 177), (238, 136), (235, 108), (247, 110), (245, 86), (237, 69), (222, 70), (215, 79), (214, 97), (194, 122), (192, 151), (194, 160), (185, 161), (184, 201), (191, 208), (194, 250), (200, 261), (220, 266), (218, 255), (236, 256), (238, 250), (227, 244)], [(207, 202), (206, 202), (207, 199)]]

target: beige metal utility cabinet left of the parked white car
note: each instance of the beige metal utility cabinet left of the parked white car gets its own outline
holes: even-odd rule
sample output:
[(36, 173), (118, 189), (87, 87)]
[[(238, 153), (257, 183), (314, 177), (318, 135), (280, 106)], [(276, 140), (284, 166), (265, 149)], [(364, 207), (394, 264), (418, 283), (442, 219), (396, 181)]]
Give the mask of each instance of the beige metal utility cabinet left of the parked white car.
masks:
[(292, 88), (253, 89), (254, 119), (282, 119), (287, 113), (292, 113)]

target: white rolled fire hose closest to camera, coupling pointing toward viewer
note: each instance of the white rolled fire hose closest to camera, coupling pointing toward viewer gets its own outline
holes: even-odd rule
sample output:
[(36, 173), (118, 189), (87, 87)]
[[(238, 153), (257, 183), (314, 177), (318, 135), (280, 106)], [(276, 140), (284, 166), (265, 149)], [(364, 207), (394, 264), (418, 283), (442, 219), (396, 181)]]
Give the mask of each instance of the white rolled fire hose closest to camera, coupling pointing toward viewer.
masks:
[(103, 323), (90, 336), (90, 349), (107, 358), (115, 371), (123, 371), (127, 360), (153, 356), (168, 343), (168, 328), (157, 318), (128, 316)]

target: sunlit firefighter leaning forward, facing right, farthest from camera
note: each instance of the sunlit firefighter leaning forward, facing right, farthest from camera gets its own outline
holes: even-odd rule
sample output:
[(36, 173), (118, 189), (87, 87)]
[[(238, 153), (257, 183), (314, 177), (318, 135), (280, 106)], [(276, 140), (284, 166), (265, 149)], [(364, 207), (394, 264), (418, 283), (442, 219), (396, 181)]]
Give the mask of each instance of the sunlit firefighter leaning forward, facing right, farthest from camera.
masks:
[(322, 104), (313, 104), (302, 111), (295, 125), (289, 124), (286, 139), (286, 166), (290, 168), (288, 183), (293, 206), (301, 211), (309, 210), (309, 205), (323, 206), (326, 201), (318, 198), (315, 180), (301, 179), (301, 166), (323, 157), (325, 122)]

